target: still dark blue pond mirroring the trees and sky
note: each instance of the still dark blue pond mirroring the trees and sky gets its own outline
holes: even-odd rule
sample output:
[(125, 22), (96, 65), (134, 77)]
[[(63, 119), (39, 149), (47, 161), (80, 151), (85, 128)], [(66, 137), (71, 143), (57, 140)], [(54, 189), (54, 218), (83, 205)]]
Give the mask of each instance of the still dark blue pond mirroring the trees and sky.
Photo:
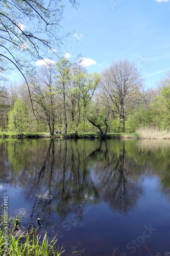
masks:
[(63, 255), (170, 256), (170, 141), (1, 139), (0, 153), (1, 212), (7, 196), (22, 226), (40, 218)]

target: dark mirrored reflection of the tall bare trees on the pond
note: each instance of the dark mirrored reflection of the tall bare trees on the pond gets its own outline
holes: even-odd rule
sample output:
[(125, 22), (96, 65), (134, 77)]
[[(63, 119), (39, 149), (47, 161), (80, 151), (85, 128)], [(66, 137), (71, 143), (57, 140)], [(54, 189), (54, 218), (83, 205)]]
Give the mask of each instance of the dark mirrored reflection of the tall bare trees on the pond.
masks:
[(52, 225), (53, 212), (60, 221), (76, 212), (80, 222), (87, 203), (105, 201), (112, 210), (123, 213), (136, 205), (142, 191), (128, 170), (136, 166), (126, 158), (125, 142), (119, 145), (119, 152), (108, 148), (107, 141), (89, 142), (40, 140), (37, 145), (35, 141), (28, 146), (23, 143), (23, 148), (16, 141), (13, 152), (7, 146), (11, 164), (16, 154), (25, 159), (24, 166), (15, 163), (19, 169), (13, 173), (26, 200), (32, 202), (31, 221), (41, 217)]

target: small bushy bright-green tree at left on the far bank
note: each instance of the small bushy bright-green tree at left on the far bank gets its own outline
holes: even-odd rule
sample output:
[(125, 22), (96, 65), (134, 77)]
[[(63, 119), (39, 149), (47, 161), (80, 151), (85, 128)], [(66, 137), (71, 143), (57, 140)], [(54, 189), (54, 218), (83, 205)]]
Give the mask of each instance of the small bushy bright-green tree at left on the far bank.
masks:
[(14, 108), (9, 112), (9, 131), (23, 134), (28, 130), (28, 109), (19, 98), (15, 101)]

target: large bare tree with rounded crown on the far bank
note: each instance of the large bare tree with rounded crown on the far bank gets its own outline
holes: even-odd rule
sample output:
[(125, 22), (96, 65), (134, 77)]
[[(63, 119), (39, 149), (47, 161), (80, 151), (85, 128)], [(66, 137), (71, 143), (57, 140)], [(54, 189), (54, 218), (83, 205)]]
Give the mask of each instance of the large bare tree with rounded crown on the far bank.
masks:
[(114, 61), (103, 72), (100, 83), (102, 99), (108, 109), (118, 114), (125, 132), (125, 118), (132, 109), (135, 95), (142, 86), (143, 79), (135, 65), (127, 59)]

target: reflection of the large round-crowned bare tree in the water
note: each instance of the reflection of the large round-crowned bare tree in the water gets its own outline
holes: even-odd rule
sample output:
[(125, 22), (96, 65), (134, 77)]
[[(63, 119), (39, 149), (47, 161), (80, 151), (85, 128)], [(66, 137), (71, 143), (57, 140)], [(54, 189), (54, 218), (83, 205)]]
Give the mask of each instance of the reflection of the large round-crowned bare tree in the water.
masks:
[(119, 154), (109, 152), (106, 141), (104, 145), (105, 152), (97, 151), (98, 154), (104, 153), (105, 161), (95, 163), (95, 187), (112, 210), (127, 214), (137, 205), (138, 197), (142, 194), (142, 188), (137, 183), (140, 168), (131, 158), (126, 157), (125, 141), (122, 148), (119, 148)]

